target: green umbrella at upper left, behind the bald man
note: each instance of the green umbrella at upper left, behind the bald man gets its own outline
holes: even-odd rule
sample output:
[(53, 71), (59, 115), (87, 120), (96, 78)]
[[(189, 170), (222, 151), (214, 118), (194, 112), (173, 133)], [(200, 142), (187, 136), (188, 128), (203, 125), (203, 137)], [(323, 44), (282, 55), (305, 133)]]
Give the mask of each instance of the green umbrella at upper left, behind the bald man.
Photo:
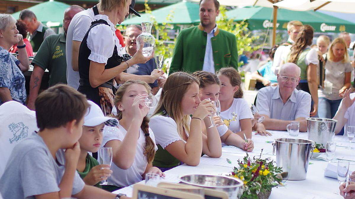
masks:
[[(58, 27), (63, 25), (64, 11), (70, 5), (59, 1), (46, 1), (35, 6), (27, 8), (34, 12), (37, 20), (48, 27)], [(15, 19), (20, 16), (20, 11), (12, 14)]]

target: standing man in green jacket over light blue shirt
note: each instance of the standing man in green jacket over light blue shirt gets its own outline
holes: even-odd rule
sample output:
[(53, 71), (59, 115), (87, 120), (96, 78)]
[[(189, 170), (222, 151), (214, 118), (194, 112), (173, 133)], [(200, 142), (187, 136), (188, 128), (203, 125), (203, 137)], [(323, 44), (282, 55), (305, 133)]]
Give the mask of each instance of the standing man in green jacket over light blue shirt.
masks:
[(238, 67), (235, 35), (220, 30), (217, 0), (200, 1), (200, 25), (181, 30), (171, 61), (170, 74), (176, 71), (205, 70), (215, 73), (222, 67)]

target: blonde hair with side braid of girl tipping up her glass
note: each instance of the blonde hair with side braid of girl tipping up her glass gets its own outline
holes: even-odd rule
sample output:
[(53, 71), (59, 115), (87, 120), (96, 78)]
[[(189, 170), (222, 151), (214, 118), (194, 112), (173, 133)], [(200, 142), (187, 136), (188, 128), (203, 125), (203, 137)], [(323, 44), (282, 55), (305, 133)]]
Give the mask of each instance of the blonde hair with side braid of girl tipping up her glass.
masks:
[[(117, 110), (117, 115), (115, 116), (115, 118), (117, 118), (118, 120), (122, 119), (122, 112), (117, 108), (118, 107), (117, 104), (122, 101), (122, 97), (125, 94), (127, 88), (132, 84), (140, 84), (140, 85), (143, 85), (144, 87), (146, 87), (148, 95), (151, 92), (151, 87), (147, 83), (145, 83), (144, 81), (141, 81), (141, 80), (128, 80), (124, 84), (122, 84), (118, 88), (118, 90), (116, 91), (116, 95), (114, 98), (114, 103), (116, 105), (116, 110)], [(148, 163), (151, 163), (153, 161), (154, 155), (155, 155), (155, 144), (154, 144), (151, 136), (149, 136), (149, 125), (148, 124), (149, 124), (149, 118), (147, 116), (145, 116), (143, 118), (143, 121), (141, 124), (141, 129), (143, 130), (143, 133), (146, 138), (146, 144), (144, 145), (143, 154), (147, 157)]]

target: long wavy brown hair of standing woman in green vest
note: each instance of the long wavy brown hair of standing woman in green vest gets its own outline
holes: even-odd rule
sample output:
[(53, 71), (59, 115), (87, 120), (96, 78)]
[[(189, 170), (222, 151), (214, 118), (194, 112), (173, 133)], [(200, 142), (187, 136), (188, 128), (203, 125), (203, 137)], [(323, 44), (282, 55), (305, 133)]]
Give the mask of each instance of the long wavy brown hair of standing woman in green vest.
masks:
[(312, 44), (313, 28), (310, 25), (303, 25), (301, 32), (298, 35), (297, 41), (291, 47), (291, 53), (287, 60), (290, 63), (296, 63), (301, 52), (306, 49), (307, 46)]

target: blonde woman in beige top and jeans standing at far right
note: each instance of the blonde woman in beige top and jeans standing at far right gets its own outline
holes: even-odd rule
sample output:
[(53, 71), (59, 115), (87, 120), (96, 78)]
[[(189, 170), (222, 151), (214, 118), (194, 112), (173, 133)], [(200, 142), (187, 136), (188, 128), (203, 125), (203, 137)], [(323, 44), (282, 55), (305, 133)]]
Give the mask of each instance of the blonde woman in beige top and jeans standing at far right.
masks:
[(337, 113), (345, 90), (351, 86), (351, 72), (354, 70), (344, 39), (333, 40), (327, 53), (325, 70), (325, 80), (331, 82), (333, 87), (331, 94), (326, 93), (324, 88), (318, 89), (318, 116), (331, 119)]

